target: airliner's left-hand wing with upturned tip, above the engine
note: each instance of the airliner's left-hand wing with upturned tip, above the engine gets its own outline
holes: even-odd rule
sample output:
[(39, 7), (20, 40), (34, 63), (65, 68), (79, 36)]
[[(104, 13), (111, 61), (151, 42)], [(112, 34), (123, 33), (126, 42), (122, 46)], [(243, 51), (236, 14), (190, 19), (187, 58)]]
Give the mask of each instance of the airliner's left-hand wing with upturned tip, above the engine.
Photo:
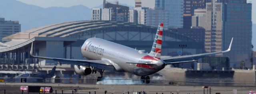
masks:
[(86, 67), (96, 67), (97, 69), (104, 69), (108, 71), (115, 71), (115, 68), (111, 63), (108, 63), (107, 61), (102, 61), (102, 60), (62, 59), (62, 58), (53, 58), (53, 57), (34, 56), (33, 43), (31, 45), (30, 55), (34, 58), (53, 60), (61, 64), (81, 65)]

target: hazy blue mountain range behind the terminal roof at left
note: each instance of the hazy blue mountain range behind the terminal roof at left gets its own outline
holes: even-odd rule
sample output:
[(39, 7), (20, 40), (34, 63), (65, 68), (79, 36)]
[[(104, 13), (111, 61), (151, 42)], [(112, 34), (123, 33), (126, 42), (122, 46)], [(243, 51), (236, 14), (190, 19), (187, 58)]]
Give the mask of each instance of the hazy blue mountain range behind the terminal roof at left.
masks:
[(83, 5), (42, 8), (16, 0), (1, 0), (0, 17), (19, 21), (24, 31), (53, 23), (90, 20), (90, 8)]

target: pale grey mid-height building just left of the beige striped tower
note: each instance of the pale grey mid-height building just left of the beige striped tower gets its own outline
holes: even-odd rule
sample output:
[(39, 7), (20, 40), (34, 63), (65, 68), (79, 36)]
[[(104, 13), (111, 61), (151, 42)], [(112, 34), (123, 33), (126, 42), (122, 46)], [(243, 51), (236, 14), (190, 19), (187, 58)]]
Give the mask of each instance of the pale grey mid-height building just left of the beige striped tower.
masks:
[(206, 23), (206, 10), (196, 9), (194, 10), (194, 16), (192, 16), (192, 28), (203, 27), (205, 28)]

